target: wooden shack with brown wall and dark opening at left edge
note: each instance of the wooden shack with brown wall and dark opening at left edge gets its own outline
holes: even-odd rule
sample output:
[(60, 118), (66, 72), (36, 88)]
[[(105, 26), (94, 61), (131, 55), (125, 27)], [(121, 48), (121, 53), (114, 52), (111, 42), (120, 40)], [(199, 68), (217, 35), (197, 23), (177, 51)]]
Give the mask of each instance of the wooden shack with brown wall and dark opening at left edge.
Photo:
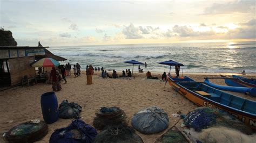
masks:
[(0, 46), (0, 87), (22, 82), (24, 76), (35, 77), (30, 63), (36, 55), (45, 55), (46, 47)]

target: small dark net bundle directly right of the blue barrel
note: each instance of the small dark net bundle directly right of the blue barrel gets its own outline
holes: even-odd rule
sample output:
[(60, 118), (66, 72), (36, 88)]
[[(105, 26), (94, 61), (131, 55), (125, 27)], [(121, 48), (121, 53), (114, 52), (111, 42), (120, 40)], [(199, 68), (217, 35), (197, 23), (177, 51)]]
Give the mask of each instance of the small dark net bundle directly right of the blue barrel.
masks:
[(79, 113), (82, 111), (82, 107), (76, 103), (69, 103), (68, 100), (62, 101), (59, 105), (59, 118), (70, 119), (76, 118), (79, 119)]

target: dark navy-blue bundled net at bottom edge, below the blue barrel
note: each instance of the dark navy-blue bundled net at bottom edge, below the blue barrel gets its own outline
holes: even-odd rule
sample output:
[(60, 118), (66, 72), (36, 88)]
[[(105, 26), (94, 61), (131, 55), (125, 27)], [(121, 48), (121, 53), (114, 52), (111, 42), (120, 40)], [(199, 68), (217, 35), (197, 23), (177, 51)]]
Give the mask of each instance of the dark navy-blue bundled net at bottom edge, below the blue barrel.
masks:
[(97, 131), (83, 120), (72, 120), (68, 127), (55, 130), (51, 134), (50, 143), (55, 142), (92, 142), (97, 135)]

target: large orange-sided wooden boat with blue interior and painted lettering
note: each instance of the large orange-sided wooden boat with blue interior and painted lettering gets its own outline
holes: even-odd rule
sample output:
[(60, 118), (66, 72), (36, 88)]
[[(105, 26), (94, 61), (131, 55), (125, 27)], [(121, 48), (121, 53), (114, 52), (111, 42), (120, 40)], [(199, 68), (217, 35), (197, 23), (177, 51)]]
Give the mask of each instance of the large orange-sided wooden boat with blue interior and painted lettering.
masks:
[(198, 106), (230, 112), (256, 130), (256, 102), (228, 94), (201, 82), (174, 81), (170, 77), (168, 81), (174, 90)]

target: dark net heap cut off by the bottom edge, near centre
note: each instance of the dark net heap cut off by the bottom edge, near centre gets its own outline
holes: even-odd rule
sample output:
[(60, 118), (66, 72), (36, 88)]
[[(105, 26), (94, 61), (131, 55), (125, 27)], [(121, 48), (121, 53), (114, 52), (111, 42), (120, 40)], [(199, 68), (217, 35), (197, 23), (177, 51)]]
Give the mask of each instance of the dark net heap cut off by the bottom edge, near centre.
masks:
[(140, 143), (143, 140), (135, 133), (135, 130), (131, 126), (120, 124), (106, 126), (93, 142)]

